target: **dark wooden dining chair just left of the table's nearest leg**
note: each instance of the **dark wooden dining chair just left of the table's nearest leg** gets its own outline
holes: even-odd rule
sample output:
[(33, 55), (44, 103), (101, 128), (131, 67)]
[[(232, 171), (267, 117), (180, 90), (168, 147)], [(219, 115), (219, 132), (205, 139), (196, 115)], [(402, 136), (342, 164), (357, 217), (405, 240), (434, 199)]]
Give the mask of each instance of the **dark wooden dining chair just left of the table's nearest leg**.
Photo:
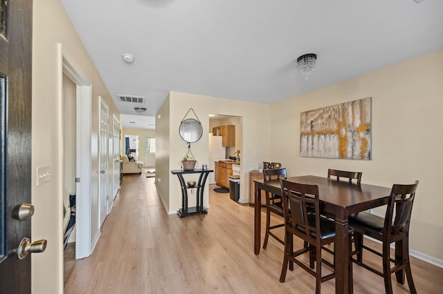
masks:
[[(322, 277), (322, 264), (334, 269), (334, 265), (321, 257), (321, 248), (325, 244), (335, 241), (335, 223), (320, 216), (320, 200), (318, 186), (298, 184), (280, 179), (282, 188), (282, 204), (284, 213), (284, 259), (280, 282), (286, 279), (287, 268), (292, 270), (291, 264), (296, 263), (309, 274), (316, 277), (316, 293), (320, 293), (322, 282), (335, 277), (335, 270)], [(313, 212), (314, 210), (314, 212)], [(352, 232), (352, 229), (350, 229)], [(293, 248), (293, 236), (300, 237), (308, 243), (297, 251)], [(350, 242), (348, 242), (350, 246)], [(297, 257), (309, 253), (309, 266)], [(316, 262), (314, 268), (313, 262)], [(350, 277), (352, 278), (352, 262), (349, 263)]]

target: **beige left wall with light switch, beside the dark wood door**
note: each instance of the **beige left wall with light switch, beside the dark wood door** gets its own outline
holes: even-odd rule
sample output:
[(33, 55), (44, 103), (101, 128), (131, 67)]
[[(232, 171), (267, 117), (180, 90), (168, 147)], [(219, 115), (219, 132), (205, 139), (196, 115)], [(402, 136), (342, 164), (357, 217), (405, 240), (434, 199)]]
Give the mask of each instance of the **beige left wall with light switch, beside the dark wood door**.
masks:
[[(63, 292), (62, 58), (57, 52), (57, 43), (62, 43), (64, 50), (75, 59), (75, 63), (92, 83), (91, 197), (94, 199), (98, 199), (98, 96), (108, 104), (110, 117), (113, 113), (120, 117), (60, 1), (35, 1), (31, 183), (35, 215), (32, 239), (47, 239), (48, 246), (44, 253), (32, 255), (33, 293)], [(35, 168), (46, 165), (51, 168), (51, 180), (37, 187)]]

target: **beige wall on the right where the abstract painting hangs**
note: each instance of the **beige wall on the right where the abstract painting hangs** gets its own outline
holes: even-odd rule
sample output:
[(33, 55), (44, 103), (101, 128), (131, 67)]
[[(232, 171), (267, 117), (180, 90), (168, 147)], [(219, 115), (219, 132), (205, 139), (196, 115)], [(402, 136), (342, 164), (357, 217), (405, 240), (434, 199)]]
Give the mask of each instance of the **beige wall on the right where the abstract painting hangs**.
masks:
[[(442, 266), (442, 81), (439, 50), (273, 104), (271, 128), (279, 131), (271, 133), (271, 160), (282, 162), (289, 175), (325, 176), (327, 168), (355, 170), (363, 172), (363, 183), (387, 187), (418, 179), (410, 248)], [(299, 156), (300, 112), (365, 97), (372, 97), (372, 160)]]

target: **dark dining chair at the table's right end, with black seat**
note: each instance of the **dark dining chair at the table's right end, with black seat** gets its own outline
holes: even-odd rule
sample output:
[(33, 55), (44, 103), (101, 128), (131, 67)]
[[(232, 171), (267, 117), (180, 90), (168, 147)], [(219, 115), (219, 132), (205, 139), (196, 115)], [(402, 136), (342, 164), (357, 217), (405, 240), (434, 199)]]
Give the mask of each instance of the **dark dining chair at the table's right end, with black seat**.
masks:
[[(364, 268), (376, 273), (384, 278), (386, 293), (392, 293), (391, 274), (402, 271), (401, 284), (404, 284), (404, 271), (410, 293), (417, 293), (415, 290), (413, 275), (410, 271), (409, 262), (409, 224), (412, 213), (415, 190), (417, 190), (418, 181), (415, 184), (392, 186), (385, 217), (372, 215), (368, 212), (356, 213), (350, 215), (349, 224), (354, 228), (355, 248), (352, 255), (356, 254), (356, 259), (352, 257), (352, 262), (363, 266)], [(363, 235), (367, 235), (382, 242), (382, 251), (376, 251), (373, 248), (363, 244)], [(396, 258), (390, 257), (390, 244), (395, 243)], [(399, 246), (397, 248), (397, 246)], [(379, 255), (383, 259), (383, 272), (363, 263), (363, 249)], [(390, 262), (395, 263), (391, 267)]]

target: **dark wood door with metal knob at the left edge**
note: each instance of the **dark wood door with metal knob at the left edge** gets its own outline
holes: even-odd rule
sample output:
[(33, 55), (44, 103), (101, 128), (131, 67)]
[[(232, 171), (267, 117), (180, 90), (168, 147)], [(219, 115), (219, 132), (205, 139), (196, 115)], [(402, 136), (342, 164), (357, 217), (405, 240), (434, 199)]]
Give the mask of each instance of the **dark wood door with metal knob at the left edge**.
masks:
[(0, 293), (30, 293), (30, 219), (17, 208), (31, 200), (32, 0), (0, 0)]

